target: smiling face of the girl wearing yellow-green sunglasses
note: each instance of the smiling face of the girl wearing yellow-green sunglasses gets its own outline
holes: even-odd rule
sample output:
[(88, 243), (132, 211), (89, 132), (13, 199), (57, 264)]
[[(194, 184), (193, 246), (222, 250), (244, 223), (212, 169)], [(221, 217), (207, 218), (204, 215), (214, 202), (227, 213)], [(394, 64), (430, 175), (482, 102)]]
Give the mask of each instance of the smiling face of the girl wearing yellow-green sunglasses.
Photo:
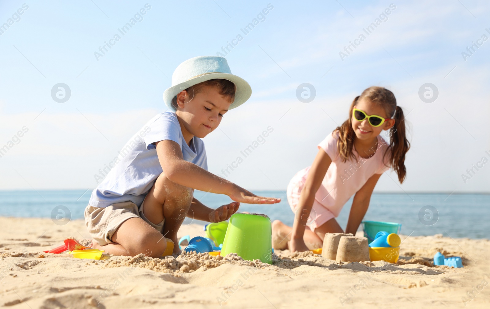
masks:
[[(354, 105), (354, 107), (364, 111), (368, 116), (377, 115), (383, 118), (389, 118), (382, 107), (371, 103), (368, 99), (363, 98), (361, 100), (358, 100), (357, 104)], [(356, 133), (356, 137), (360, 140), (372, 139), (378, 136), (382, 130), (389, 130), (395, 124), (394, 119), (389, 119), (385, 120), (385, 122), (383, 122), (383, 124), (379, 127), (373, 127), (369, 123), (368, 118), (359, 121), (353, 115), (351, 115), (350, 117), (352, 122), (352, 129)]]

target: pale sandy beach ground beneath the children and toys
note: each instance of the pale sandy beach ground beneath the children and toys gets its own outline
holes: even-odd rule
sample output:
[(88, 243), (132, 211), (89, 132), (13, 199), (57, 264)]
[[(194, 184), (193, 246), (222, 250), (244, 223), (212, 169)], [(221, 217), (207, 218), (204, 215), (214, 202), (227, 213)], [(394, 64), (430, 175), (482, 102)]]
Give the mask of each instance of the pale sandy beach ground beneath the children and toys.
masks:
[[(49, 254), (83, 220), (0, 217), (0, 306), (5, 308), (488, 308), (488, 239), (400, 236), (396, 264), (343, 263), (276, 251), (274, 263), (188, 254), (165, 259)], [(359, 232), (358, 232), (359, 233)], [(183, 226), (179, 237), (203, 236)], [(437, 251), (464, 268), (434, 266)]]

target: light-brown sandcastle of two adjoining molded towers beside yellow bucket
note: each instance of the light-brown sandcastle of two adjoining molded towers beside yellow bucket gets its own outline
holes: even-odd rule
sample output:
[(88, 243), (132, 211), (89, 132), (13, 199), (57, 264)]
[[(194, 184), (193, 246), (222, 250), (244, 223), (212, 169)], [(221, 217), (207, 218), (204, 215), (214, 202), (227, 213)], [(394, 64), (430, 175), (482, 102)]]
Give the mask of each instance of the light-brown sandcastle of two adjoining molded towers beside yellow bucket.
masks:
[(345, 233), (327, 233), (321, 255), (330, 260), (343, 262), (369, 261), (368, 238)]

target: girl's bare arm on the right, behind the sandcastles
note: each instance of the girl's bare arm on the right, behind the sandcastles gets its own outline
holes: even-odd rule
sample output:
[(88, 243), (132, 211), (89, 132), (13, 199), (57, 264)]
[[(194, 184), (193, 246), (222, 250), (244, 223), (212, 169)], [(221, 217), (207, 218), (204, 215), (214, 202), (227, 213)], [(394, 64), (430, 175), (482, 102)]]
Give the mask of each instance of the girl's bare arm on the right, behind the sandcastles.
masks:
[(382, 174), (372, 175), (364, 186), (354, 195), (345, 233), (352, 233), (353, 235), (356, 235), (359, 224), (361, 224), (364, 215), (368, 211), (369, 200), (371, 199), (374, 186), (376, 186), (376, 183), (381, 175)]

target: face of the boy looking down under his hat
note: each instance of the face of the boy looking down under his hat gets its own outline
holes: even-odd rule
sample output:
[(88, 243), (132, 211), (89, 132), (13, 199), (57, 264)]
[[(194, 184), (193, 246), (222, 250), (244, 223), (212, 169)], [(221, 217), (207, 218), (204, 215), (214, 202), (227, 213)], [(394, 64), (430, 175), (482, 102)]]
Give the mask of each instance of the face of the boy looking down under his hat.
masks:
[(193, 98), (184, 90), (177, 95), (176, 114), (193, 136), (204, 138), (220, 125), (231, 101), (218, 92), (217, 87), (205, 86)]

